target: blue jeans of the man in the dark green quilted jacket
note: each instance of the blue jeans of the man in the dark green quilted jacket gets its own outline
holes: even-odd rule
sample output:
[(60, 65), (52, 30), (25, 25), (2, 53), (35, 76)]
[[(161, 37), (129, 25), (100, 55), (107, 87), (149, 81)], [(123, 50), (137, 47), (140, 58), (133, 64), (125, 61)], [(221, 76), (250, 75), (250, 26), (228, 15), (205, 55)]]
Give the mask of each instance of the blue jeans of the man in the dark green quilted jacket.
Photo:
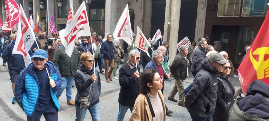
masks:
[(63, 93), (63, 90), (66, 88), (66, 100), (70, 101), (72, 100), (72, 85), (74, 82), (74, 77), (73, 76), (68, 76), (68, 77), (61, 77), (61, 87), (57, 91), (56, 96), (60, 97), (61, 94)]

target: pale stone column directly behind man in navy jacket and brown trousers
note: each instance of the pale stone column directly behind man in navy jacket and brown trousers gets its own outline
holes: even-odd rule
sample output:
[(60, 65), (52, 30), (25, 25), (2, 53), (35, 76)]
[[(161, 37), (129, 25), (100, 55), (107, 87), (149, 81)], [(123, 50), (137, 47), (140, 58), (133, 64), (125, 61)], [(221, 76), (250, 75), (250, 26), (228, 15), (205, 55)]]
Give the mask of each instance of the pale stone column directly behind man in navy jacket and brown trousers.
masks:
[(106, 0), (106, 31), (105, 31), (105, 37), (107, 37), (108, 34), (113, 34), (113, 32), (115, 30), (115, 27), (117, 25), (117, 22), (118, 22), (117, 6), (118, 6), (118, 1), (117, 0)]

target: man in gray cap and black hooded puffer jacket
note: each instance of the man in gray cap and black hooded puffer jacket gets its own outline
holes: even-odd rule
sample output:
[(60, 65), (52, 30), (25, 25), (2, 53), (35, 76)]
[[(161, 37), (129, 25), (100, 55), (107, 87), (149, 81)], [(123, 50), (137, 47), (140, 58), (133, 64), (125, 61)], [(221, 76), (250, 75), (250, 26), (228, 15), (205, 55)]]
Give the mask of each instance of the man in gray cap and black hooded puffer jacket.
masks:
[(213, 53), (201, 62), (201, 70), (185, 97), (185, 107), (194, 121), (212, 120), (217, 101), (217, 77), (229, 62), (221, 54)]

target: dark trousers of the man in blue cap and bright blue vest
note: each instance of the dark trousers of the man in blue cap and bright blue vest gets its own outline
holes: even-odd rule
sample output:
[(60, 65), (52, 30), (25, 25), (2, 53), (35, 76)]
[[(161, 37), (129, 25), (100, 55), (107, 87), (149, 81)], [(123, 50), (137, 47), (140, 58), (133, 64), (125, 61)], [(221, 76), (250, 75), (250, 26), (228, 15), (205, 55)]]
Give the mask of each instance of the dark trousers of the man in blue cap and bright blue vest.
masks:
[(44, 112), (35, 111), (31, 117), (27, 115), (27, 121), (40, 121), (42, 114), (46, 121), (58, 121), (58, 109), (56, 107)]

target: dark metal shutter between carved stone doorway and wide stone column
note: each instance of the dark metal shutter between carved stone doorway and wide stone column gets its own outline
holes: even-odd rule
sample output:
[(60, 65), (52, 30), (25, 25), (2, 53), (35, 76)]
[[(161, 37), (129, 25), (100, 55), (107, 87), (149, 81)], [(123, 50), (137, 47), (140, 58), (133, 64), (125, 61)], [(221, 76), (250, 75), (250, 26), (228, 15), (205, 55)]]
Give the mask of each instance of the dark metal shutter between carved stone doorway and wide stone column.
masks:
[(150, 31), (151, 38), (154, 36), (158, 29), (160, 29), (163, 35), (163, 29), (165, 25), (165, 3), (165, 0), (152, 0)]

